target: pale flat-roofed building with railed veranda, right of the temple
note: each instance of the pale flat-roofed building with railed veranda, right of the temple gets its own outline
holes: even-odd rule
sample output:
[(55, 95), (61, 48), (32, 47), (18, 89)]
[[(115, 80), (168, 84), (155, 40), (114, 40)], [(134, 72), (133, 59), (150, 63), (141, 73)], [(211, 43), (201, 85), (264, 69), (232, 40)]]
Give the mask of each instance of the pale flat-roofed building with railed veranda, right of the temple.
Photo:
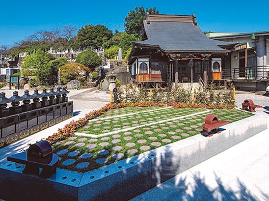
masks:
[(269, 31), (246, 34), (208, 33), (211, 39), (236, 43), (227, 49), (222, 78), (243, 90), (265, 91), (269, 85)]

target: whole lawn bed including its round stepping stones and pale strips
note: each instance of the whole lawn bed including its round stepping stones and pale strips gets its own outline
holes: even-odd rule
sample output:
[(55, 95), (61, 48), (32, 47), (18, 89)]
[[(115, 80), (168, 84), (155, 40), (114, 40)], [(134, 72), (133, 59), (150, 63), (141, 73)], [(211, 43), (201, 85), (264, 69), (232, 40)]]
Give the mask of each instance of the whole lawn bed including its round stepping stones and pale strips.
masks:
[[(60, 168), (86, 172), (200, 134), (207, 114), (229, 123), (252, 116), (238, 109), (132, 107), (113, 109), (58, 142)], [(193, 116), (192, 116), (193, 114)], [(117, 117), (115, 117), (117, 116)]]

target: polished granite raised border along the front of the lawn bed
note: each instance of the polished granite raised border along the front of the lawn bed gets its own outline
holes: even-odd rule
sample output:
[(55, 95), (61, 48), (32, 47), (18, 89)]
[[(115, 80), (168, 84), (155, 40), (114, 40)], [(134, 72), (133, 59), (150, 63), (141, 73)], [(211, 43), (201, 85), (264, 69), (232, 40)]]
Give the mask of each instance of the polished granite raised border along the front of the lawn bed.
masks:
[(87, 173), (58, 168), (46, 180), (22, 174), (24, 165), (7, 162), (0, 167), (0, 198), (127, 200), (265, 129), (267, 116), (256, 114), (223, 126), (212, 137), (198, 134)]

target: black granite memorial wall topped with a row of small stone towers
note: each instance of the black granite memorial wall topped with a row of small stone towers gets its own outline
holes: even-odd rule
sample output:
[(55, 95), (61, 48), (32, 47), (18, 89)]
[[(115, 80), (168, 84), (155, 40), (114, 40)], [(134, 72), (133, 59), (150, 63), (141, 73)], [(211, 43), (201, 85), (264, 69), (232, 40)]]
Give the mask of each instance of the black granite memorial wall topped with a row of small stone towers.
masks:
[[(0, 113), (0, 148), (73, 117), (73, 102), (67, 102), (66, 97), (69, 92), (65, 89), (50, 92), (46, 93), (44, 89), (43, 93), (38, 94), (35, 90), (31, 96), (25, 90), (21, 97), (14, 92), (12, 99), (6, 98), (5, 93), (0, 93), (0, 108), (3, 111)], [(52, 93), (57, 95), (56, 98), (47, 101)], [(41, 102), (39, 98), (42, 98)], [(31, 104), (30, 99), (33, 99)], [(24, 104), (20, 106), (19, 101)], [(12, 106), (7, 108), (7, 103)]]

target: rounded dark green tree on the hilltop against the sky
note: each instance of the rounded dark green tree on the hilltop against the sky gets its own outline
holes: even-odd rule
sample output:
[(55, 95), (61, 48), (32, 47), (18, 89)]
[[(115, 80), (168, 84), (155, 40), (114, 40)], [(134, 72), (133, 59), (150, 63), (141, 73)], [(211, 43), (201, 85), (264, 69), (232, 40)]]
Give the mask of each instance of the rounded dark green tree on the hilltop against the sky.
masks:
[(77, 39), (80, 46), (100, 48), (104, 42), (112, 37), (112, 32), (104, 25), (89, 24), (77, 31)]

